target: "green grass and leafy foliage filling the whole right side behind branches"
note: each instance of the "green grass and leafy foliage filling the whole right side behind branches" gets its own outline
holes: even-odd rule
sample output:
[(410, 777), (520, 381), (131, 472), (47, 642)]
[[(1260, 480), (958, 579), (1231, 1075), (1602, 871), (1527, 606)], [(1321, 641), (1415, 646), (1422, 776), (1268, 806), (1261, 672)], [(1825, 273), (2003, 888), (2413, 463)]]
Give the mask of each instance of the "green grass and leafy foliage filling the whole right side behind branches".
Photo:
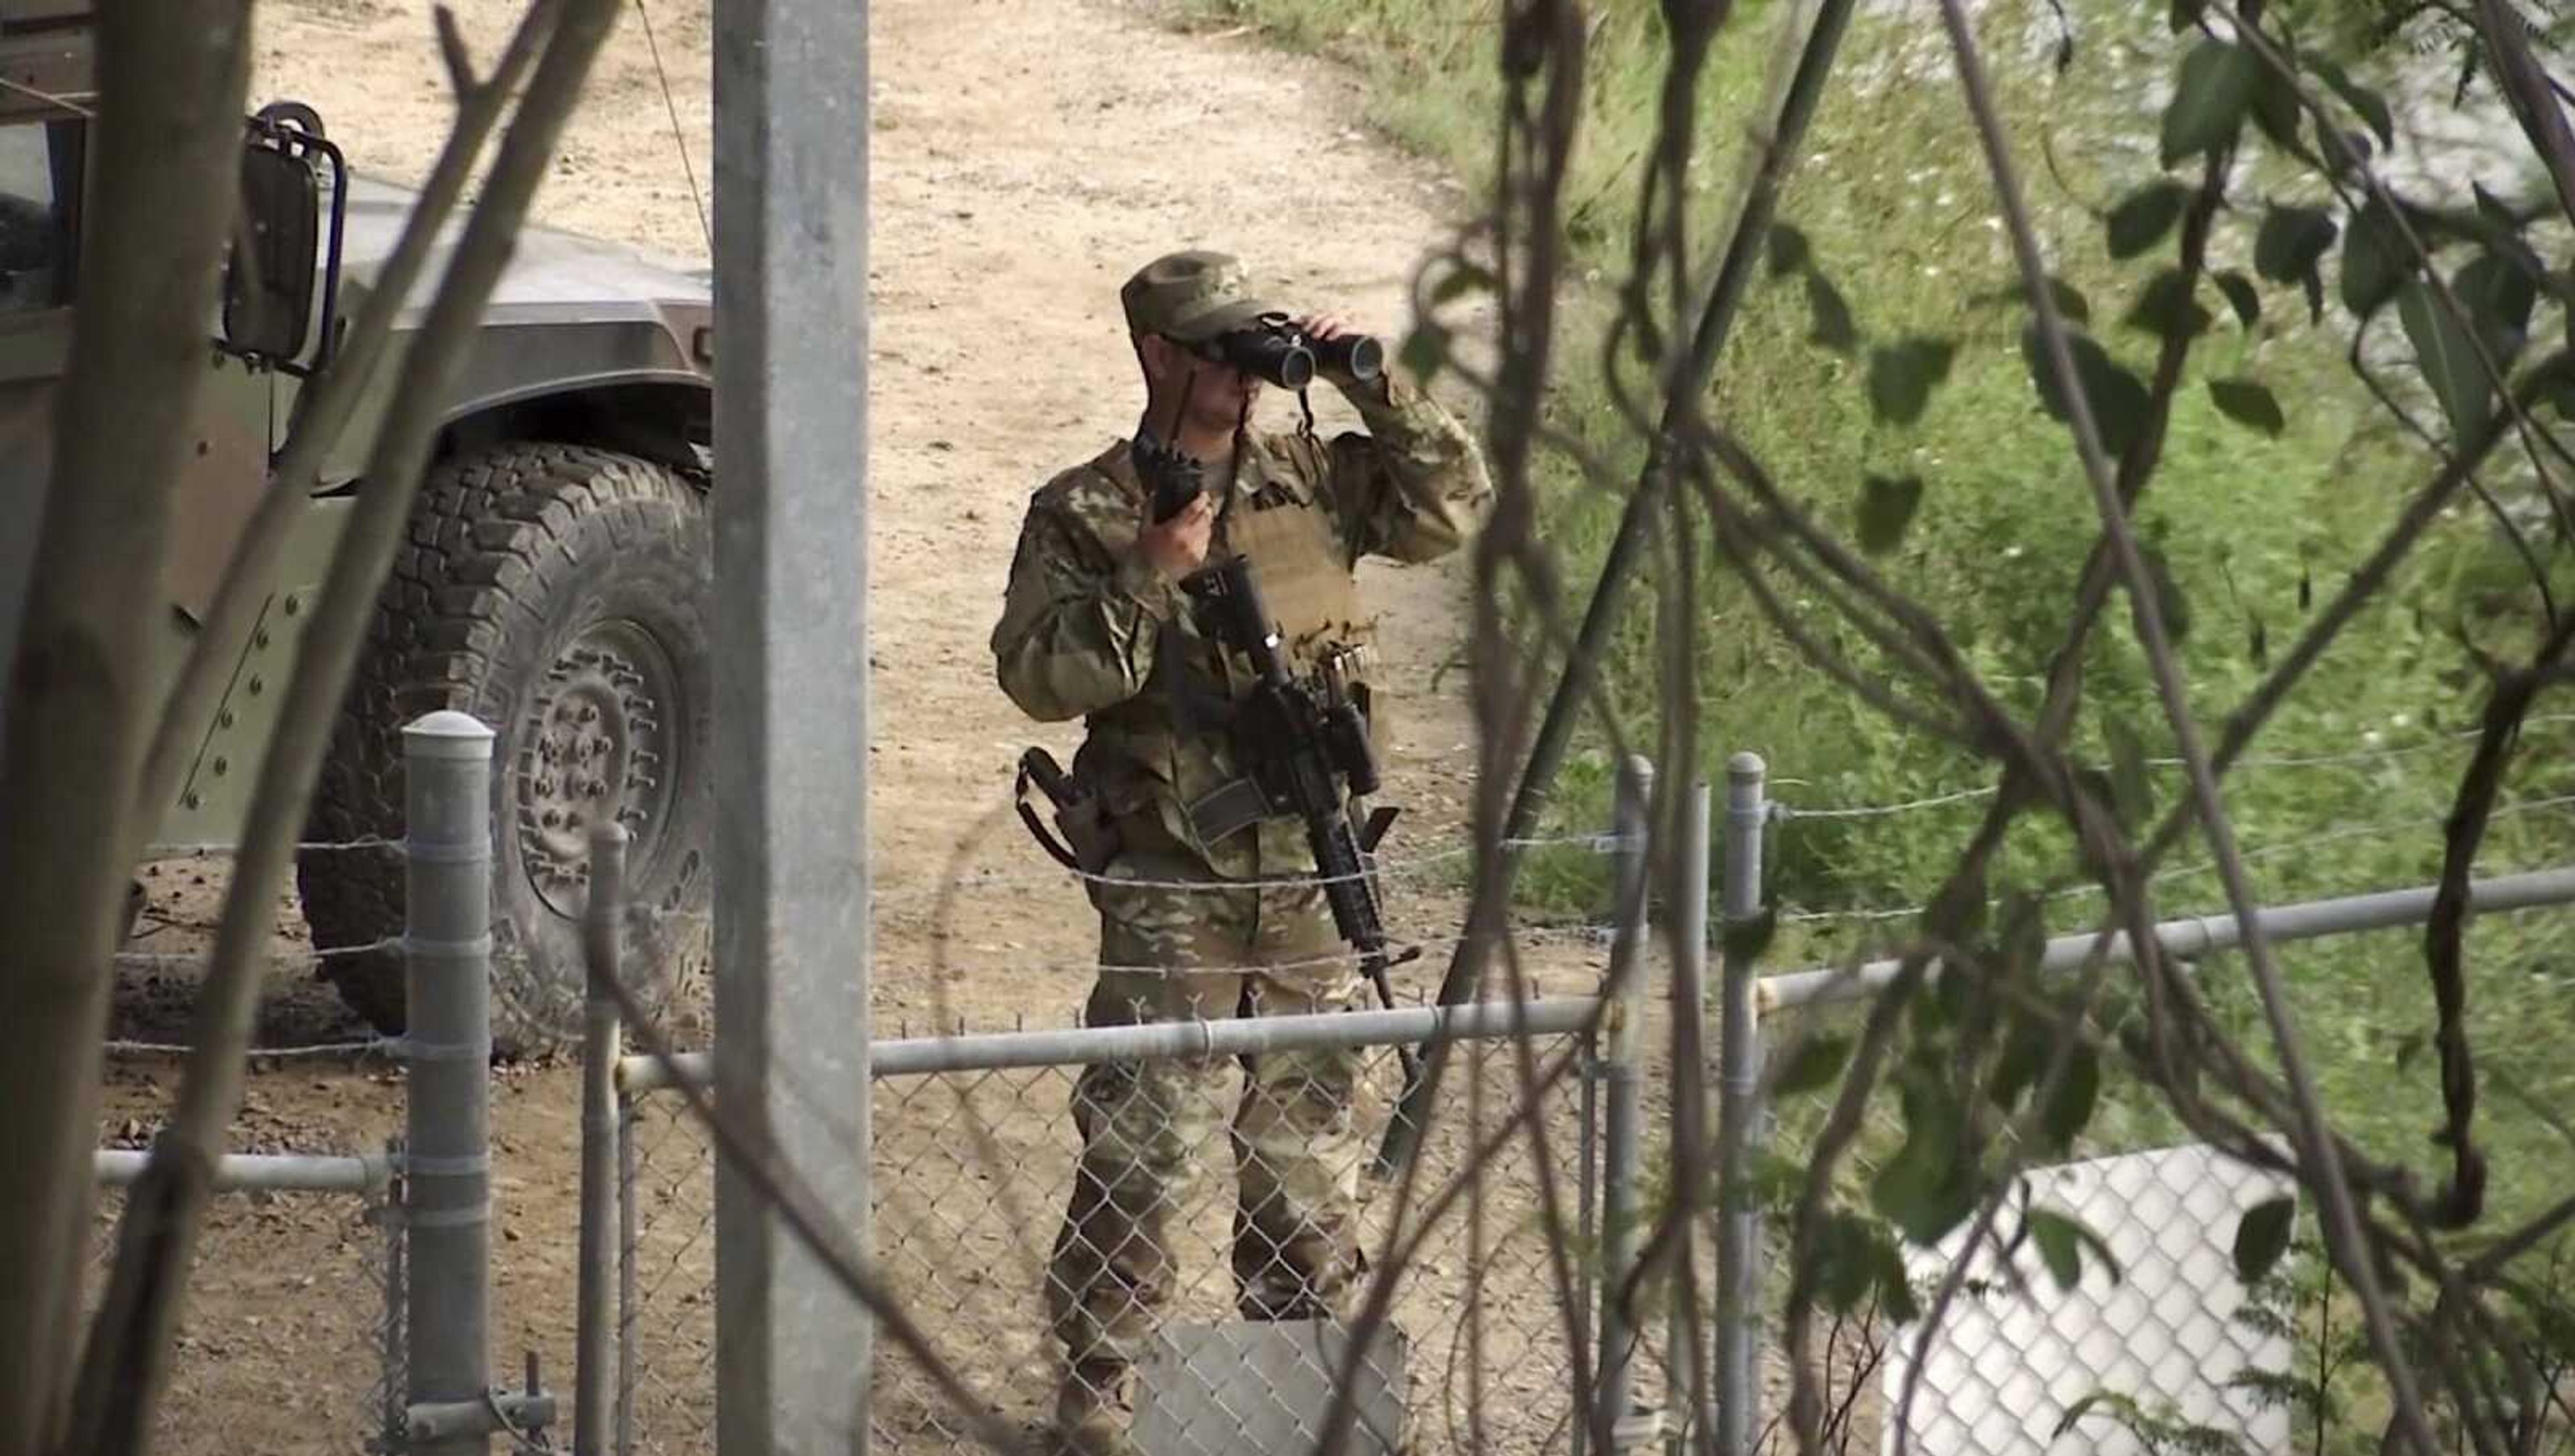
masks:
[[(1187, 0), (1187, 8), (1352, 62), (1372, 80), (1372, 123), (1470, 185), (1488, 180), (1501, 116), (1494, 0)], [(1568, 298), (1548, 417), (1633, 481), (1643, 442), (1602, 388), (1599, 340), (1627, 273), (1663, 44), (1658, 8), (1648, 0), (1602, 0), (1591, 10), (1589, 103), (1566, 190), (1578, 288)], [(2364, 5), (2305, 10), (2297, 21), (2307, 44), (2325, 36), (2346, 44), (2374, 15)], [(1702, 82), (1702, 136), (1692, 162), (1692, 221), (1702, 239), (1730, 206), (1738, 126), (1756, 105), (1779, 13), (1772, 3), (1738, 3)], [(2173, 219), (2199, 180), (2196, 165), (2166, 172), (2160, 162), (2176, 141), (2160, 98), (2191, 36), (2173, 36), (2160, 5), (2070, 0), (2065, 13), (2070, 21), (2060, 28), (2050, 5), (1998, 0), (1980, 26), (2021, 185), (2088, 337), (2142, 381), (2153, 373), (2160, 332), (2199, 332), (2137, 520), (2168, 579), (2166, 612), (2176, 633), (2186, 630), (2181, 651), (2196, 718), (2214, 736), (2343, 587), (2439, 455), (2364, 388), (2346, 358), (2354, 327), (2346, 301), (2387, 283), (2372, 278), (2366, 247), (2351, 250), (2343, 237), (2328, 242), (2307, 214), (2274, 211), (2323, 208), (2338, 224), (2346, 219), (2305, 167), (2276, 162), (2253, 126), (2245, 129), (2251, 165), (2230, 185), (2230, 208), (2209, 250), (2217, 278), (2196, 298), (2176, 298), (2160, 283), (2173, 265)], [(2057, 67), (2057, 44), (2068, 36), (2070, 64)], [(2047, 414), (2021, 355), (2027, 314), (2014, 262), (1944, 54), (1939, 28), (1918, 8), (1900, 21), (1854, 26), (1841, 80), (1782, 203), (1787, 229), (1772, 239), (1764, 280), (1720, 365), (1712, 417), (1782, 489), (1841, 525), (1895, 587), (1926, 605), (1998, 697), (2027, 710), (2063, 641), (2096, 512), (2070, 435)], [(2348, 49), (2343, 59), (2361, 80), (2387, 62)], [(2354, 108), (2356, 129), (2382, 129), (2374, 95), (2354, 85), (2336, 93)], [(2189, 118), (2178, 126), (2189, 152)], [(2549, 201), (2531, 175), (2475, 180), (2505, 201)], [(2457, 203), (2469, 206), (2467, 188), (2457, 190)], [(2562, 242), (2544, 250), (2562, 257)], [(2475, 270), (2449, 273), (2475, 252), (2444, 255), (2444, 275), (2462, 293), (2493, 280)], [(2351, 257), (2361, 265), (2348, 268)], [(2302, 283), (2297, 273), (2307, 260), (2318, 262), (2315, 278)], [(2539, 342), (2565, 337), (2552, 298), (2536, 309), (2524, 298), (2518, 311), (2531, 355)], [(2372, 358), (2410, 360), (2415, 350), (2405, 345), (2410, 337), (2420, 345), (2426, 327), (2405, 306), (2387, 309), (2372, 337), (2395, 347)], [(2405, 412), (2441, 435), (2487, 409), (2459, 378), (2423, 378), (2410, 363), (2387, 373)], [(2487, 484), (2505, 509), (2518, 509), (2521, 481), (2500, 460)], [(1620, 502), (1553, 458), (1537, 489), (1545, 538), (1581, 599)], [(2549, 551), (2544, 530), (2534, 538)], [(2562, 548), (2552, 561), (2549, 587), (2567, 607), (2575, 571)], [(1810, 669), (1761, 623), (1733, 576), (1710, 571), (1702, 581), (1710, 581), (1697, 661), (1705, 774), (1723, 782), (1725, 756), (1754, 749), (1769, 761), (1774, 797), (1792, 808), (1895, 805), (1990, 785), (1990, 772), (1890, 725)], [(2531, 574), (2487, 509), (2464, 507), (2441, 520), (2274, 718), (2253, 761), (2227, 779), (2256, 895), (2279, 903), (2433, 880), (2444, 815), (2469, 756), (2467, 733), (2487, 697), (2464, 643), (2524, 653), (2534, 607)], [(1826, 620), (1823, 612), (1815, 620)], [(1872, 661), (1859, 643), (1836, 646)], [(1666, 689), (1651, 587), (1630, 594), (1602, 669), (1622, 713), (1651, 723)], [(2575, 859), (2570, 710), (2575, 702), (2544, 700), (2542, 718), (2524, 733), (2480, 869)], [(2086, 656), (2078, 743), (2153, 813), (2184, 792), (2168, 764), (2176, 749), (2163, 707), (2117, 605)], [(1591, 736), (1560, 777), (1548, 828), (1602, 826), (1607, 792), (1607, 759)], [(1779, 821), (1766, 885), (1784, 921), (1766, 962), (1844, 960), (1903, 934), (1906, 918), (1864, 911), (1916, 905), (1954, 864), (1980, 810), (1983, 800), (1957, 797), (1885, 818)], [(2225, 908), (2204, 859), (2207, 846), (2196, 839), (2168, 857), (2171, 869), (2155, 885), (2163, 913)], [(2029, 823), (2001, 857), (1993, 890), (2055, 890), (2078, 880), (2070, 864), (2065, 836)], [(1591, 918), (1607, 903), (1602, 867), (1581, 854), (1537, 854), (1522, 898), (1532, 916)], [(2073, 931), (2096, 905), (2099, 895), (2078, 885), (2050, 903), (2045, 918), (2055, 931)], [(2575, 1106), (2575, 1062), (2562, 1055), (2575, 1026), (2570, 936), (2575, 924), (2562, 911), (2480, 921), (2469, 934), (2469, 1039), (2485, 1093), (2477, 1132), (2495, 1168), (2480, 1230), (2536, 1212), (2567, 1183), (2567, 1134), (2539, 1109)], [(2336, 1122), (2366, 1152), (2410, 1160), (2436, 1186), (2446, 1155), (2426, 1145), (2441, 1122), (2441, 1093), (2439, 1060), (2423, 1047), (2433, 1021), (2423, 931), (2287, 947), (2281, 960)], [(2202, 962), (2199, 985), (2222, 1024), (2269, 1062), (2271, 1037), (2238, 957)], [(1831, 1029), (1833, 1021), (1844, 1019), (1815, 1016), (1803, 1026)], [(1936, 1042), (1926, 1037), (1926, 1047)], [(1839, 1083), (1831, 1057), (1810, 1070), (1813, 1088), (1779, 1109), (1787, 1152), (1779, 1173), (1795, 1170), (1792, 1150), (1805, 1145)], [(1900, 1083), (1908, 1116), (1916, 1111), (1911, 1091), (1936, 1086), (1947, 1070), (1934, 1057), (1916, 1068), (1918, 1080)], [(1926, 1093), (1926, 1116), (1954, 1119), (1960, 1096)], [(1862, 1206), (1869, 1201), (1862, 1181), (1903, 1163), (1903, 1145), (1918, 1142), (1898, 1127), (1893, 1088), (1882, 1101), (1862, 1163), (1849, 1170), (1849, 1191)], [(2160, 1098), (2117, 1080), (2068, 1109), (2065, 1122), (2081, 1129), (2065, 1142), (2075, 1152), (2186, 1137)], [(1924, 1181), (1942, 1181), (1936, 1163), (1921, 1163)], [(1906, 1178), (1911, 1173), (1895, 1173)], [(1908, 1194), (1916, 1206), (1947, 1191), (1929, 1183)], [(1903, 1201), (1880, 1201), (1877, 1212), (1898, 1217)], [(2312, 1222), (2299, 1235), (2312, 1235)], [(1859, 1279), (1849, 1289), (1864, 1286)]]

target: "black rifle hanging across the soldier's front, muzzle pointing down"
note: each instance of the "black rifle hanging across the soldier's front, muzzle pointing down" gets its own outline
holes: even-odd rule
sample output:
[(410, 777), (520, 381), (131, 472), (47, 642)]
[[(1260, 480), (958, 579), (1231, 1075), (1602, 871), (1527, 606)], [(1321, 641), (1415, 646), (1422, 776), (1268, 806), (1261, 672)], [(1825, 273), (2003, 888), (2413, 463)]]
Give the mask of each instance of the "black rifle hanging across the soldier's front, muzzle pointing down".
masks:
[[(1421, 952), (1409, 947), (1388, 957), (1367, 857), (1401, 810), (1380, 805), (1360, 831), (1352, 828), (1339, 792), (1339, 779), (1349, 782), (1349, 797), (1378, 792), (1378, 754), (1367, 738), (1367, 720), (1339, 671), (1326, 669), (1321, 682), (1298, 682), (1288, 671), (1277, 628), (1246, 558), (1233, 556), (1200, 571), (1187, 581), (1187, 592), (1197, 597), (1203, 623), (1251, 661), (1257, 679), (1233, 718), (1244, 779), (1208, 795), (1203, 805), (1215, 808), (1213, 800), (1233, 797), (1246, 800), (1239, 808), (1246, 818), (1293, 813), (1306, 821), (1306, 844), (1324, 880), (1331, 924), (1360, 952), (1360, 970), (1378, 988), (1378, 1001), (1393, 1008), (1396, 993), (1385, 970)], [(1396, 1055), (1403, 1062), (1403, 1086), (1411, 1088), (1421, 1075), (1421, 1057), (1409, 1044), (1398, 1044)]]

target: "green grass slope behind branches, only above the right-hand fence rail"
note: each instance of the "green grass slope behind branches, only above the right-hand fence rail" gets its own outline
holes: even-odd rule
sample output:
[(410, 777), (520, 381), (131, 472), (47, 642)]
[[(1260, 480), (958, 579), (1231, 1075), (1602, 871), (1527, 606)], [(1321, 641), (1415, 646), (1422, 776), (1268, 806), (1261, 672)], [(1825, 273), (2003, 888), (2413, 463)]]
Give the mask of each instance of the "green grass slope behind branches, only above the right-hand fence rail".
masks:
[[(1195, 8), (1354, 62), (1375, 80), (1375, 123), (1470, 180), (1488, 175), (1499, 118), (1496, 5), (1488, 0), (1195, 0)], [(1854, 28), (1844, 80), (1782, 203), (1782, 219), (1803, 239), (1795, 252), (1810, 265), (1782, 270), (1777, 262), (1787, 252), (1774, 250), (1774, 268), (1720, 365), (1715, 414), (1784, 489), (1841, 522), (1854, 543), (1867, 535), (1872, 478), (1880, 502), (1898, 499), (1895, 481), (1918, 481), (1918, 507), (1900, 545), (1877, 556), (1880, 569), (1934, 610), (2006, 702), (2032, 705), (2063, 638), (2096, 517), (2070, 437), (2045, 414), (2019, 350), (2021, 309), (2003, 296), (2016, 280), (1957, 85), (1944, 67), (1929, 64), (1942, 54), (1939, 36), (1913, 21)], [(1702, 85), (1707, 121), (1692, 165), (1702, 232), (1712, 232), (1728, 206), (1733, 129), (1754, 105), (1774, 26), (1774, 5), (1738, 5)], [(2145, 376), (2158, 340), (2122, 319), (2168, 268), (2171, 244), (2114, 260), (2104, 219), (2163, 177), (2153, 154), (2155, 113), (2119, 98), (2168, 75), (2178, 44), (2160, 10), (2091, 3), (2073, 8), (2073, 26), (2075, 62), (2060, 77), (2034, 54), (2045, 46), (1996, 39), (2052, 36), (2042, 5), (1993, 5), (1985, 18), (1988, 46), (2014, 62), (1996, 64), (1998, 82), (2019, 123), (2024, 188), (2057, 252), (2057, 275), (2081, 296), (2093, 337)], [(1609, 291), (1625, 273), (1661, 59), (1651, 3), (1596, 5), (1586, 62), (1591, 100), (1568, 188), (1573, 275), (1586, 288), (1573, 301), (1550, 424), (1627, 471), (1640, 442), (1609, 406), (1596, 355)], [(2487, 183), (2521, 185), (2516, 177)], [(2132, 226), (2135, 216), (2130, 208)], [(2253, 283), (2238, 296), (2258, 319), (2248, 327), (2227, 293), (2202, 291), (2199, 309), (2212, 319), (2140, 509), (2140, 530), (2173, 576), (2168, 605), (2178, 605), (2189, 625), (2186, 666), (2202, 723), (2217, 723), (2287, 648), (2312, 605), (2343, 581), (2433, 463), (2426, 445), (2392, 424), (2351, 378), (2343, 360), (2348, 316), (2328, 311), (2325, 324), (2312, 327), (2297, 286), (2251, 278), (2258, 221), (2251, 214), (2222, 224), (2212, 257), (2212, 268)], [(1818, 311), (1826, 288), (1839, 306)], [(1826, 314), (1841, 311), (1851, 340), (1839, 350), (1818, 345)], [(1906, 363), (1942, 358), (1911, 347), (1918, 340), (1954, 342), (1954, 352), (1936, 370), (1918, 419), (1885, 422), (1872, 409), (1872, 388), (1900, 383)], [(2279, 422), (2269, 427), (2274, 406)], [(1545, 535), (1566, 579), (1589, 589), (1620, 502), (1586, 491), (1563, 460), (1542, 466), (1540, 489)], [(2230, 808), (2248, 846), (2346, 833), (2325, 854), (2261, 859), (2263, 893), (2397, 885), (2439, 864), (2436, 823), (2467, 759), (2467, 743), (2451, 736), (2475, 725), (2482, 700), (2451, 625), (2462, 615), (2526, 610), (2526, 599), (2498, 597), (2495, 584), (2516, 574), (2518, 561), (2490, 520), (2457, 512), (2402, 574), (2400, 592), (2346, 633), (2266, 731), (2258, 756), (2269, 759), (2377, 746), (2423, 751), (2343, 769), (2245, 769), (2230, 779)], [(2117, 723), (2148, 756), (2171, 756), (2124, 612), (2112, 617), (2088, 656), (2083, 741), (2109, 764), (2106, 733)], [(1790, 805), (1903, 803), (1990, 782), (1947, 746), (1893, 728), (1808, 669), (1723, 576), (1712, 584), (1702, 641), (1712, 774), (1725, 754), (1754, 749), (1769, 759), (1774, 797)], [(1630, 597), (1604, 669), (1622, 707), (1648, 720), (1663, 687), (1651, 597)], [(2575, 774), (2539, 751), (2575, 741), (2557, 728), (2531, 736), (2518, 800), (2575, 792)], [(1599, 826), (1607, 779), (1596, 751), (1571, 764), (1555, 795), (1555, 828)], [(2153, 787), (2158, 805), (2168, 803), (2181, 777), (2163, 769)], [(1975, 803), (1960, 803), (1906, 821), (1790, 821), (1777, 836), (1772, 890), (1790, 908), (1913, 903), (1949, 864), (1975, 813)], [(2521, 854), (2529, 864), (2531, 854), (2565, 844), (2562, 815), (2529, 818), (2544, 821), (2531, 823), (2529, 836), (2518, 836), (2513, 821), (2498, 826), (2508, 831), (2495, 844), (2498, 862)], [(2374, 828), (2356, 833), (2359, 826)], [(2405, 833), (2390, 833), (2392, 826)], [(2019, 875), (2055, 875), (2065, 864), (2063, 844), (2034, 836), (2011, 864)], [(1589, 913), (1602, 903), (1596, 869), (1571, 862), (1540, 864), (1527, 885), (1532, 908)], [(2199, 875), (2171, 882), (2163, 900), (2184, 908), (2214, 895), (2214, 877)]]

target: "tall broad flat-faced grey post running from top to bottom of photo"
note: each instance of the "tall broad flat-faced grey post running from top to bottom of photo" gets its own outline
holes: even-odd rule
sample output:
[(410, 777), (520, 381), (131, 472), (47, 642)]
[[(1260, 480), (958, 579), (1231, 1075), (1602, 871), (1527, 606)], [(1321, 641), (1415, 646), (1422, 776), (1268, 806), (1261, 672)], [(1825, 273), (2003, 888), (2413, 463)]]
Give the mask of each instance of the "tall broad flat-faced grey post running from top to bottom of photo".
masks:
[[(868, 5), (716, 0), (716, 1109), (868, 1248)], [(729, 1158), (716, 1448), (868, 1448), (870, 1320)]]

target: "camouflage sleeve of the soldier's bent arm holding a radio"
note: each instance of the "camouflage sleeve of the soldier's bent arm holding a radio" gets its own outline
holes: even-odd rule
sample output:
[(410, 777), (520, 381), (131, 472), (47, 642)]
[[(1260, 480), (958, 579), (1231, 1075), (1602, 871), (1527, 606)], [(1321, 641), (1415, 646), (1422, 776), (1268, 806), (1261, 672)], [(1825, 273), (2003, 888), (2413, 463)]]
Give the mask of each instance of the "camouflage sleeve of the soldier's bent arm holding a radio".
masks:
[(1009, 563), (994, 674), (1043, 723), (1136, 697), (1177, 610), (1172, 584), (1136, 551), (1138, 502), (1102, 478), (1058, 481), (1030, 502)]

